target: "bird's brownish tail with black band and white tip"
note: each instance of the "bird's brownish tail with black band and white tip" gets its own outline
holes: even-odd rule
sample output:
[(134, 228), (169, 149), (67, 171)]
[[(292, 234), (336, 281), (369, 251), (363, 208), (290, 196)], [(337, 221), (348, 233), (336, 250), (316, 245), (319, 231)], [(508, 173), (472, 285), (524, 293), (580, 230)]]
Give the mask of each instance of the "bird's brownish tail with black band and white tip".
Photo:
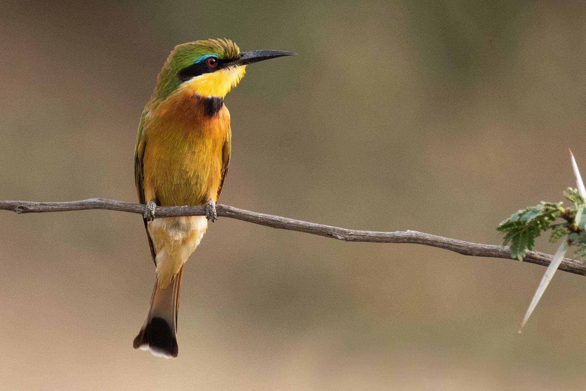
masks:
[(158, 281), (155, 281), (147, 319), (132, 344), (135, 349), (150, 350), (159, 357), (177, 357), (177, 312), (182, 273), (183, 267), (165, 289), (159, 288)]

